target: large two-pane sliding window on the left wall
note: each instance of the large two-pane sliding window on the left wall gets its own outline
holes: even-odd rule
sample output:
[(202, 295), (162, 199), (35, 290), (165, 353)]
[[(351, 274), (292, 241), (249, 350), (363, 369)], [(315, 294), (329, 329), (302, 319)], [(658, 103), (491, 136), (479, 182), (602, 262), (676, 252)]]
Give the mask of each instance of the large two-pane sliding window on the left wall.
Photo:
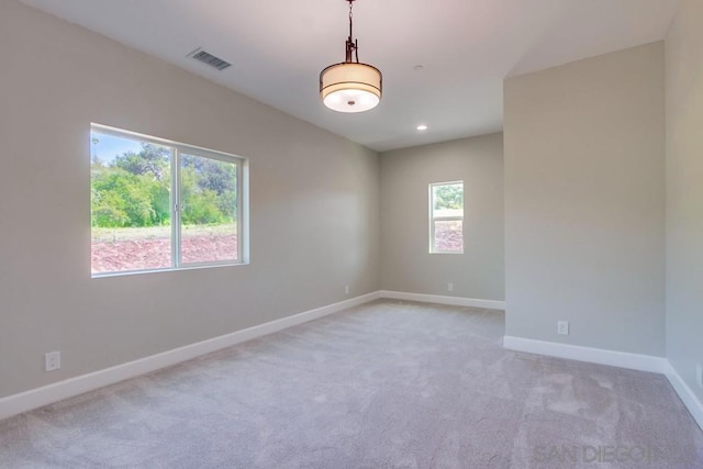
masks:
[(245, 164), (93, 124), (93, 276), (242, 264)]

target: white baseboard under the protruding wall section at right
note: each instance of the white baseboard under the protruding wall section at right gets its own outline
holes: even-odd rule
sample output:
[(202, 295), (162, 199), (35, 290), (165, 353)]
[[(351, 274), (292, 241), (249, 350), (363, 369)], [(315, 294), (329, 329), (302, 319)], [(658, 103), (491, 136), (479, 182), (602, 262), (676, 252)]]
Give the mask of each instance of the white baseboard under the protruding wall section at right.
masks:
[(529, 354), (548, 355), (570, 360), (591, 364), (610, 365), (633, 370), (665, 373), (668, 361), (662, 357), (631, 354), (627, 351), (605, 350), (602, 348), (582, 347), (579, 345), (559, 344), (556, 342), (535, 340), (532, 338), (504, 336), (503, 347), (509, 350)]

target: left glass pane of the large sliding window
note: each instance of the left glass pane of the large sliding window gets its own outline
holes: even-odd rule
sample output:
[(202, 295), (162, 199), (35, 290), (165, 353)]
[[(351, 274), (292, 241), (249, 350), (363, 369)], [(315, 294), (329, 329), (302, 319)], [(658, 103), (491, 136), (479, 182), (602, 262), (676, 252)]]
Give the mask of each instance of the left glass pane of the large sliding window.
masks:
[(92, 273), (171, 266), (172, 149), (91, 132)]

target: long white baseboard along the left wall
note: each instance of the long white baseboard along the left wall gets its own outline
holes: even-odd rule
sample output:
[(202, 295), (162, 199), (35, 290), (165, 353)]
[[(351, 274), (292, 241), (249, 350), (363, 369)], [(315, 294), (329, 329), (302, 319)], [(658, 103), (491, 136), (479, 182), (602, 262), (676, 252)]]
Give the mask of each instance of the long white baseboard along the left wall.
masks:
[(328, 304), (315, 310), (305, 311), (281, 320), (271, 321), (254, 327), (225, 334), (208, 340), (198, 342), (185, 347), (163, 351), (138, 360), (129, 361), (103, 370), (81, 375), (42, 388), (32, 389), (19, 394), (8, 395), (0, 399), (0, 420), (22, 412), (31, 411), (63, 399), (72, 398), (83, 392), (124, 381), (164, 367), (180, 364), (201, 355), (210, 354), (222, 348), (231, 347), (253, 338), (272, 334), (298, 324), (302, 324), (319, 317), (333, 314), (347, 308), (357, 306), (362, 303), (380, 298), (379, 292), (364, 294), (338, 303)]

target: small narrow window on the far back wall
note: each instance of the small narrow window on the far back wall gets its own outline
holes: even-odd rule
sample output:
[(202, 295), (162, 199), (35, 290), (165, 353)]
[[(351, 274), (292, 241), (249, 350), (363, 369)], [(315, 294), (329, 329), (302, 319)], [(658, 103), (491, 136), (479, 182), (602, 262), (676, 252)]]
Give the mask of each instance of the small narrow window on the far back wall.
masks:
[(429, 185), (429, 253), (464, 253), (464, 181)]

